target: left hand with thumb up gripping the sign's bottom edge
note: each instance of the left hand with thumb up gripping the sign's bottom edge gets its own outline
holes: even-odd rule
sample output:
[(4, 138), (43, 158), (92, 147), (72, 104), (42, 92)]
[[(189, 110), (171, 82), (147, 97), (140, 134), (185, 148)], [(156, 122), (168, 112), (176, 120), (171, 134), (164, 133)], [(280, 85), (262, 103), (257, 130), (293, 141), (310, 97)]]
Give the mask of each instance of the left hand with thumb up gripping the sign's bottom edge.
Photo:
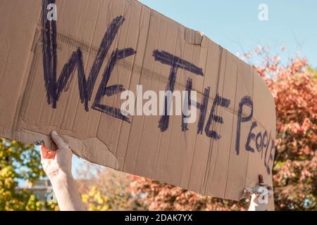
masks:
[(50, 179), (58, 174), (72, 176), (72, 150), (56, 131), (51, 132), (51, 139), (56, 143), (56, 151), (40, 146), (44, 172)]

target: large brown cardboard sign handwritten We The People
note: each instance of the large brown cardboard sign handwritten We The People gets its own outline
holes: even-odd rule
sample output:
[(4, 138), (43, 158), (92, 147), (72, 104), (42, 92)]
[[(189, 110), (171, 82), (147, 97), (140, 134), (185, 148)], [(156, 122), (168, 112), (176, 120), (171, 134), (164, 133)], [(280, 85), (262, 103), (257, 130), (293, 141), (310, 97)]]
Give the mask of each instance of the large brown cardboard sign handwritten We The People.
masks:
[[(54, 148), (56, 130), (90, 162), (219, 198), (272, 184), (273, 96), (208, 37), (134, 0), (4, 1), (0, 21), (0, 136)], [(141, 85), (196, 91), (197, 120), (123, 115)]]

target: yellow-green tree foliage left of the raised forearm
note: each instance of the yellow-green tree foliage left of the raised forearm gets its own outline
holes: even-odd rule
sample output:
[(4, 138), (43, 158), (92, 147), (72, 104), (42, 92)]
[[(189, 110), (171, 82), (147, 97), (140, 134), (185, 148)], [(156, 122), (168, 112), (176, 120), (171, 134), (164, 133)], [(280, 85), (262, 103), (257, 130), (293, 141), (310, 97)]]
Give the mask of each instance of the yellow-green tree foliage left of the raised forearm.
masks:
[(43, 203), (18, 180), (35, 181), (44, 175), (35, 146), (0, 138), (0, 210), (42, 210)]

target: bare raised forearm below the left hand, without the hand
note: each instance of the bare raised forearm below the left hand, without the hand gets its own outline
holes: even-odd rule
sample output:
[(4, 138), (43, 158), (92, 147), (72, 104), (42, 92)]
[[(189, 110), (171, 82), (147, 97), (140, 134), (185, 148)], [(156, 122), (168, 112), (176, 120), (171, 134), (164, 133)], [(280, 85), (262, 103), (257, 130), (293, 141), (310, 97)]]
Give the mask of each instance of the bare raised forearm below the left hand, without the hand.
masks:
[(51, 184), (61, 211), (84, 211), (80, 193), (71, 174), (56, 172), (50, 176)]

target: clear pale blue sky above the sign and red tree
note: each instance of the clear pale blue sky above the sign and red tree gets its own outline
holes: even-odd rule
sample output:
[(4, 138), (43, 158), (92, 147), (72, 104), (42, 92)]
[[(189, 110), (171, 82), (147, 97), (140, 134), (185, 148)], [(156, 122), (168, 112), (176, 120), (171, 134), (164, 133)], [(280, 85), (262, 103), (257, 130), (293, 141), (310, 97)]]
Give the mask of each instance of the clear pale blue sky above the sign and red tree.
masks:
[[(308, 58), (317, 67), (317, 1), (313, 0), (140, 0), (186, 27), (204, 32), (232, 53), (259, 44), (289, 57)], [(268, 21), (260, 21), (259, 4), (268, 6)]]

